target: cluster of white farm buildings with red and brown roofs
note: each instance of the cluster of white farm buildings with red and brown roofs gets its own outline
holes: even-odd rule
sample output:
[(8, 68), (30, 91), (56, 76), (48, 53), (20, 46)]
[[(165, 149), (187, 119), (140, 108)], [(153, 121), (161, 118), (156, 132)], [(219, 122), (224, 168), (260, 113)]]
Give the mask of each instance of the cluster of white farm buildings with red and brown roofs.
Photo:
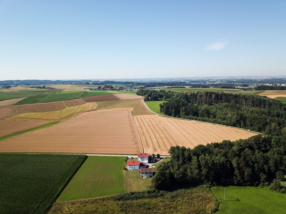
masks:
[(126, 163), (127, 170), (138, 170), (140, 177), (153, 177), (153, 168), (147, 168), (147, 163), (154, 163), (155, 159), (148, 153), (139, 153), (138, 160), (129, 160)]

